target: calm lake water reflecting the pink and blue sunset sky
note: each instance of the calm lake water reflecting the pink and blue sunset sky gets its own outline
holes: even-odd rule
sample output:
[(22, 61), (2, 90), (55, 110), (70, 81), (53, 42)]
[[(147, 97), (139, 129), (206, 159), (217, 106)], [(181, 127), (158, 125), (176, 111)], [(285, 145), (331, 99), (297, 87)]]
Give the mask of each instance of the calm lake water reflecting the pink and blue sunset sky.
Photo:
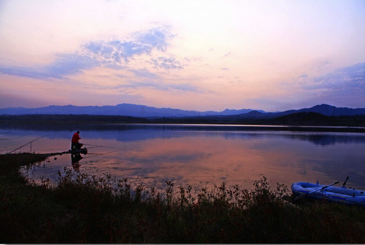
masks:
[[(81, 155), (84, 158), (74, 164), (70, 154), (56, 156), (56, 160), (52, 157), (50, 162), (25, 174), (36, 181), (42, 176), (56, 180), (57, 170), (63, 171), (67, 166), (90, 174), (111, 173), (115, 178), (127, 177), (160, 188), (165, 188), (165, 179), (192, 185), (226, 181), (228, 185), (251, 188), (253, 181), (263, 175), (273, 184), (288, 186), (296, 181), (342, 183), (350, 176), (347, 186), (365, 189), (362, 133), (207, 125), (1, 125), (0, 152), (10, 152), (45, 135), (48, 136), (32, 143), (32, 151), (67, 151), (77, 130), (81, 131), (80, 142), (86, 144), (90, 154)], [(19, 151), (30, 152), (30, 145)]]

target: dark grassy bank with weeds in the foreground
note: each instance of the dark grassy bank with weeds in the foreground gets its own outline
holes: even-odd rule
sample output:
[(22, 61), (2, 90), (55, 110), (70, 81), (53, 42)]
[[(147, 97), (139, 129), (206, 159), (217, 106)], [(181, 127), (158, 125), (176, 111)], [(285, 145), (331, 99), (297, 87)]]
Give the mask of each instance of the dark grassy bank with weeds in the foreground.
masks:
[[(292, 205), (265, 178), (252, 190), (114, 185), (108, 176), (59, 172), (29, 184), (17, 169), (46, 155), (0, 155), (0, 243), (365, 243), (363, 208)], [(133, 191), (132, 191), (133, 189)]]

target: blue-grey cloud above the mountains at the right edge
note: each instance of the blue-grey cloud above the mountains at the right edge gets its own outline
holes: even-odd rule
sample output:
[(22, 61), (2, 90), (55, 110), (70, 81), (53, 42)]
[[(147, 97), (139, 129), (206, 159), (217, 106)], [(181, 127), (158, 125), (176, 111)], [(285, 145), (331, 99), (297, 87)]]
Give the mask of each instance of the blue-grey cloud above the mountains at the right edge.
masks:
[[(311, 77), (306, 74), (299, 76), (295, 82), (280, 82), (277, 93), (267, 94), (275, 103), (280, 103), (286, 109), (296, 106), (308, 107), (315, 104), (332, 104), (338, 107), (364, 107), (365, 104), (365, 63), (341, 68), (324, 76)], [(263, 105), (270, 104), (260, 98)], [(281, 101), (281, 102), (280, 102)], [(280, 107), (280, 106), (279, 106)]]

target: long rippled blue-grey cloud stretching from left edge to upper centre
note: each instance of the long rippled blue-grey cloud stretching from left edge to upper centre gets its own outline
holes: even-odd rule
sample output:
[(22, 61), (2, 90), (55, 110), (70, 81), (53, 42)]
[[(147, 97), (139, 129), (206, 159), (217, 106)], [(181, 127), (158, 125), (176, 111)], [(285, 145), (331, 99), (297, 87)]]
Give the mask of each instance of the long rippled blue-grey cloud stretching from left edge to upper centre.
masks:
[[(135, 32), (133, 40), (99, 40), (87, 42), (74, 53), (58, 54), (56, 60), (41, 67), (1, 67), (0, 73), (41, 79), (65, 79), (67, 75), (82, 73), (95, 67), (124, 69), (136, 56), (151, 54), (153, 50), (166, 51), (169, 41), (175, 37), (171, 27), (162, 25), (147, 31)], [(183, 65), (174, 58), (159, 57), (152, 59), (155, 67), (165, 69), (183, 69)]]

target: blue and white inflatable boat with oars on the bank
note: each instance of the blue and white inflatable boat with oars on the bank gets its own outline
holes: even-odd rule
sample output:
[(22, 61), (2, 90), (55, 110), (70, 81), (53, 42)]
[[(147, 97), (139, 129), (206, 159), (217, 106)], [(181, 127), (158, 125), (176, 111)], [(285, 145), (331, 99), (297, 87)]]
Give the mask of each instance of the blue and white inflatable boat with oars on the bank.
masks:
[(318, 181), (316, 184), (295, 182), (291, 184), (291, 191), (297, 198), (302, 196), (310, 199), (322, 199), (348, 205), (365, 206), (364, 191), (355, 190), (355, 188), (351, 187), (348, 188), (345, 187), (345, 185), (342, 187), (335, 187), (332, 185), (320, 185), (318, 184)]

